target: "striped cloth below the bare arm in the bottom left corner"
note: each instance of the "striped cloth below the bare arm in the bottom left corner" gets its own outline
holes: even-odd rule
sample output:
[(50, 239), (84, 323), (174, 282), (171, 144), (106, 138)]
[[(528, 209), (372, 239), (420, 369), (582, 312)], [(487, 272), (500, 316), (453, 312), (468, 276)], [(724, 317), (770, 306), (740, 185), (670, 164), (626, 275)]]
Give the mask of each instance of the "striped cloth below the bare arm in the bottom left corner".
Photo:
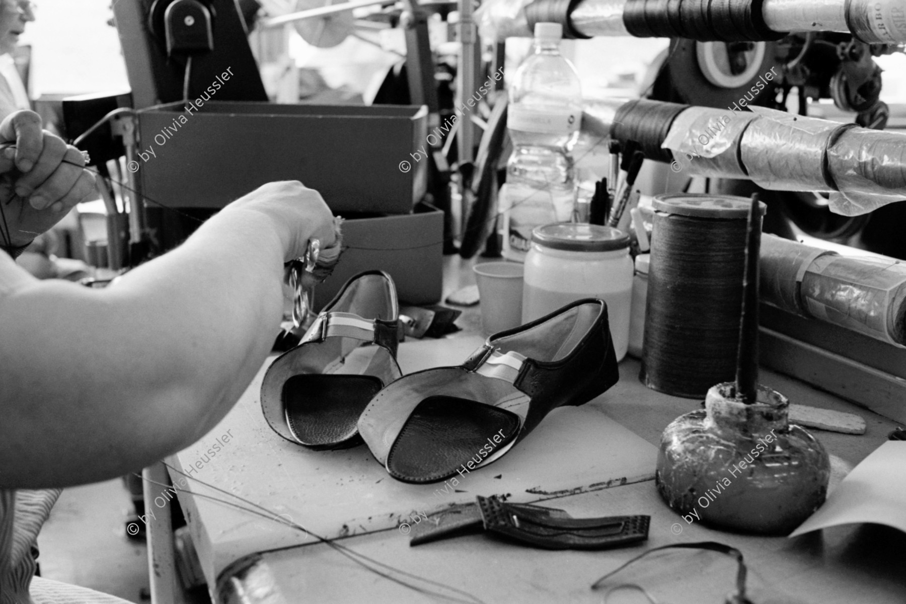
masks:
[(0, 489), (0, 604), (32, 604), (32, 546), (60, 489)]

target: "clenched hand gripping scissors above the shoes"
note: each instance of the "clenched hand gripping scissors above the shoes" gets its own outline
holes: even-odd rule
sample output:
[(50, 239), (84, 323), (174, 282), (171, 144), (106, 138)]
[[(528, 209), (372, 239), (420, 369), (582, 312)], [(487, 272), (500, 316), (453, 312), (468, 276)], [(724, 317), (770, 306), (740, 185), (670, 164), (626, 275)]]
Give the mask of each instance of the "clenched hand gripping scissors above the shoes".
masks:
[(249, 209), (271, 218), (284, 242), (284, 261), (304, 256), (311, 239), (321, 249), (336, 243), (333, 213), (321, 194), (297, 180), (267, 183), (226, 206), (224, 211)]

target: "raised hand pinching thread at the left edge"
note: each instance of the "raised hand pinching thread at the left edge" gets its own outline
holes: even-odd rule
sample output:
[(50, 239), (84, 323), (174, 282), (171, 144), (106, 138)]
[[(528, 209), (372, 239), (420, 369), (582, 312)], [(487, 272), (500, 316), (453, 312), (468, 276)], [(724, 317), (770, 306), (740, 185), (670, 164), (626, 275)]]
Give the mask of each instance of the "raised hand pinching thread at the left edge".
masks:
[(0, 244), (28, 244), (96, 193), (82, 152), (44, 132), (34, 111), (16, 111), (0, 123), (3, 143), (14, 146), (0, 146), (0, 206), (10, 237)]

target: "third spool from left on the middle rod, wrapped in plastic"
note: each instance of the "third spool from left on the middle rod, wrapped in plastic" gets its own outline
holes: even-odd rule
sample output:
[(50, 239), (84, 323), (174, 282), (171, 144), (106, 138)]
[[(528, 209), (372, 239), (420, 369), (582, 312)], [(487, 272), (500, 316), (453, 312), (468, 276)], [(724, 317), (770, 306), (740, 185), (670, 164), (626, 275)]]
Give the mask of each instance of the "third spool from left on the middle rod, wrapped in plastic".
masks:
[(833, 191), (827, 149), (844, 129), (853, 125), (755, 109), (762, 116), (752, 120), (741, 141), (742, 163), (748, 177), (767, 189)]

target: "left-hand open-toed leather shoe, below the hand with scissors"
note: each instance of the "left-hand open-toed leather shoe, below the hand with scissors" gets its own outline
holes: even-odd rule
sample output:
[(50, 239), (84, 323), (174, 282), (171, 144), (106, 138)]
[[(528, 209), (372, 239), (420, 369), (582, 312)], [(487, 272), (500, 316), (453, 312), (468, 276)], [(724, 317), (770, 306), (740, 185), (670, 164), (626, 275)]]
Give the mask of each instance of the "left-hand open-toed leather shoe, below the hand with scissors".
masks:
[(381, 388), (400, 378), (399, 302), (389, 274), (359, 273), (277, 357), (261, 385), (267, 423), (312, 448), (359, 444), (356, 423)]

